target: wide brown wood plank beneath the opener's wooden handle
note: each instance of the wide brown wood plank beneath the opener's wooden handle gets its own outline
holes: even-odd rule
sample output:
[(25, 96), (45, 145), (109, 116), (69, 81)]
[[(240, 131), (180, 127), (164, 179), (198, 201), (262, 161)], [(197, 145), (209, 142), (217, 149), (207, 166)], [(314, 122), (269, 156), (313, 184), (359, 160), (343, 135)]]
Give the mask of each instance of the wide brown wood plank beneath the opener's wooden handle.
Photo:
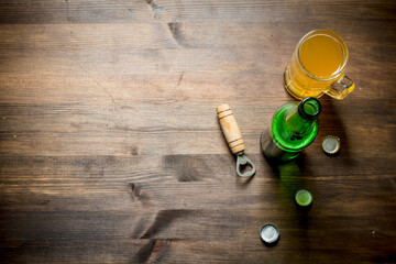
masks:
[[(155, 98), (153, 99), (155, 101)], [(285, 102), (278, 102), (282, 106)], [(387, 109), (393, 100), (342, 102), (333, 106), (323, 101), (321, 131), (315, 153), (321, 153), (320, 141), (327, 134), (342, 140), (342, 154), (360, 157), (393, 155), (389, 145), (395, 132), (395, 117)], [(348, 112), (350, 105), (354, 106)], [(133, 105), (133, 103), (129, 103)], [(260, 154), (260, 134), (277, 106), (235, 106), (234, 113), (245, 139), (248, 153)], [(140, 105), (119, 110), (112, 105), (9, 105), (0, 109), (2, 124), (0, 152), (32, 155), (148, 155), (227, 153), (216, 111), (212, 106)], [(127, 105), (125, 105), (127, 106)], [(102, 110), (100, 110), (102, 109)], [(191, 112), (191, 109), (195, 109)], [(366, 110), (372, 109), (372, 110)], [(100, 110), (100, 111), (99, 111)], [(161, 111), (158, 111), (161, 110)], [(250, 118), (255, 112), (254, 119)], [(348, 114), (349, 116), (348, 116)], [(367, 116), (370, 113), (370, 116)], [(18, 114), (18, 118), (13, 118)], [(364, 117), (360, 119), (359, 117)], [(344, 123), (353, 125), (348, 129)], [(261, 125), (257, 125), (261, 124)], [(381, 124), (383, 124), (381, 127)], [(382, 133), (382, 136), (370, 136)], [(358, 136), (359, 135), (359, 136)], [(202, 139), (196, 144), (196, 138)], [(173, 139), (178, 140), (173, 140)], [(361, 141), (361, 139), (369, 139)], [(359, 147), (350, 147), (356, 145)], [(314, 150), (312, 150), (314, 151)]]

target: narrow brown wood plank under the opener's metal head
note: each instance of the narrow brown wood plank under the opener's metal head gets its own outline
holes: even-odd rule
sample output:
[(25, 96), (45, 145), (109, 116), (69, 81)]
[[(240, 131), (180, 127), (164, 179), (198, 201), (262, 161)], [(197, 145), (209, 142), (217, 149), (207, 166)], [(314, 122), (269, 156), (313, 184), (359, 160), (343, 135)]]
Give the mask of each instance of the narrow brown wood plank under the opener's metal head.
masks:
[[(372, 156), (348, 157), (340, 154), (328, 158), (323, 153), (307, 150), (295, 163), (271, 167), (262, 155), (249, 153), (257, 167), (257, 179), (266, 183), (278, 177), (301, 180), (389, 180), (393, 178), (394, 155), (381, 155), (381, 162)], [(326, 164), (327, 166), (323, 166)], [(1, 183), (35, 188), (116, 188), (130, 190), (129, 184), (208, 183), (235, 188), (244, 184), (235, 177), (235, 161), (229, 154), (221, 155), (166, 155), (166, 156), (4, 156), (1, 158)], [(351, 168), (345, 169), (345, 165)], [(306, 168), (309, 167), (309, 168)], [(354, 167), (361, 169), (355, 172)], [(264, 179), (262, 179), (264, 177)], [(292, 179), (293, 179), (292, 178)], [(297, 180), (298, 182), (298, 180)]]

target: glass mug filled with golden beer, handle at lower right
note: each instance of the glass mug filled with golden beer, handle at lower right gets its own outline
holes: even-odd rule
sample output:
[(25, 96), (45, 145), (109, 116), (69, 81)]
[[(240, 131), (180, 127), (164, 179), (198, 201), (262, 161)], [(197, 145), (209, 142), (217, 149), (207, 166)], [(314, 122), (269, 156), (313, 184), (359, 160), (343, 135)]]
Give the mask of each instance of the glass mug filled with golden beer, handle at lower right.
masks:
[(345, 42), (334, 32), (309, 32), (297, 44), (285, 69), (285, 89), (299, 100), (323, 94), (345, 98), (354, 89), (353, 81), (343, 74), (348, 56)]

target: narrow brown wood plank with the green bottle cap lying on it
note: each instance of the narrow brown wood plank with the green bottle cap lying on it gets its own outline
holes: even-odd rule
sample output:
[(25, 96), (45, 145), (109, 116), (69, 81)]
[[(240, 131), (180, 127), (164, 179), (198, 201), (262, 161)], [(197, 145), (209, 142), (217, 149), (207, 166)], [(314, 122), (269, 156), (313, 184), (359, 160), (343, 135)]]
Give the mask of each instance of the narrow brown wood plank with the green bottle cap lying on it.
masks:
[[(232, 175), (233, 176), (233, 175)], [(342, 175), (341, 175), (342, 176)], [(393, 193), (394, 178), (388, 175), (377, 178), (361, 176), (327, 180), (311, 180), (309, 177), (297, 177), (296, 175), (283, 175), (280, 179), (266, 177), (262, 180), (253, 180), (251, 185), (231, 180), (210, 183), (191, 182), (175, 183), (138, 180), (136, 183), (109, 185), (103, 183), (97, 186), (91, 183), (77, 183), (70, 179), (69, 184), (32, 184), (29, 187), (8, 185), (1, 187), (3, 210), (26, 211), (106, 211), (122, 210), (124, 212), (140, 213), (146, 210), (158, 209), (185, 209), (185, 210), (223, 210), (232, 208), (235, 210), (264, 210), (270, 216), (292, 213), (296, 210), (294, 195), (300, 188), (314, 189), (315, 200), (318, 208), (312, 208), (312, 216), (352, 216), (366, 217), (378, 213), (392, 216), (394, 202), (386, 200)], [(223, 178), (231, 176), (223, 176)], [(257, 176), (265, 177), (265, 176)], [(372, 186), (365, 190), (364, 182)], [(341, 179), (340, 179), (341, 178)], [(330, 180), (331, 179), (331, 180)], [(143, 184), (141, 184), (143, 183)], [(237, 184), (235, 184), (237, 183)], [(91, 184), (87, 187), (88, 184)], [(134, 185), (132, 185), (134, 184)], [(134, 190), (132, 190), (132, 187)], [(344, 187), (348, 186), (348, 187)], [(135, 194), (135, 189), (139, 194)], [(364, 191), (359, 191), (363, 189)], [(9, 206), (7, 206), (9, 205)], [(11, 206), (12, 205), (12, 206)], [(230, 205), (232, 205), (230, 207)], [(282, 223), (283, 221), (280, 221)], [(180, 227), (182, 228), (182, 227)], [(392, 228), (389, 226), (388, 228)], [(182, 230), (184, 227), (182, 228)], [(182, 231), (180, 231), (182, 232)]]

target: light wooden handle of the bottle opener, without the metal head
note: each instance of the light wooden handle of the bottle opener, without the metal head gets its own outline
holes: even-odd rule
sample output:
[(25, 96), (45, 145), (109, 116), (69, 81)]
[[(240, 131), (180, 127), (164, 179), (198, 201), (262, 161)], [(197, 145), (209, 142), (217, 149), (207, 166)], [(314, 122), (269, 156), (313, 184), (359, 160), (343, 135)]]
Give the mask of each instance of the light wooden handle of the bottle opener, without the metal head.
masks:
[(244, 151), (242, 134), (239, 130), (235, 117), (233, 116), (230, 106), (228, 103), (221, 105), (216, 108), (216, 111), (221, 130), (232, 154)]

